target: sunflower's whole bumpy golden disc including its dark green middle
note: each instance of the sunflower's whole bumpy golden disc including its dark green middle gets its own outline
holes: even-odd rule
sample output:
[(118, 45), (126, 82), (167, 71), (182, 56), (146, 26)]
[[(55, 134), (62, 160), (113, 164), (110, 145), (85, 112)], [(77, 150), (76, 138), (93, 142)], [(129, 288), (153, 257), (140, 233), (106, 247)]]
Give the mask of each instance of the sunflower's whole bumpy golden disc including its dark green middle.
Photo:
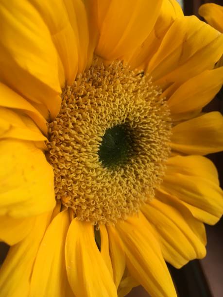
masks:
[(75, 217), (116, 222), (153, 198), (170, 153), (170, 113), (160, 94), (147, 75), (97, 59), (64, 88), (48, 128), (48, 160), (55, 196)]

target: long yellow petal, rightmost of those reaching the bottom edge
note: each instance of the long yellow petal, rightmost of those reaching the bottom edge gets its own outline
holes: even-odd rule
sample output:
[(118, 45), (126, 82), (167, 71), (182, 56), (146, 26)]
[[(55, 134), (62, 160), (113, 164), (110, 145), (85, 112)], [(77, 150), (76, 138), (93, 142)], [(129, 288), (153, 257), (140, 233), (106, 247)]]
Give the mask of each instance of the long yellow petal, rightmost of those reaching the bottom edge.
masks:
[(124, 246), (128, 270), (134, 279), (152, 296), (176, 296), (159, 243), (143, 214), (118, 222), (116, 229)]

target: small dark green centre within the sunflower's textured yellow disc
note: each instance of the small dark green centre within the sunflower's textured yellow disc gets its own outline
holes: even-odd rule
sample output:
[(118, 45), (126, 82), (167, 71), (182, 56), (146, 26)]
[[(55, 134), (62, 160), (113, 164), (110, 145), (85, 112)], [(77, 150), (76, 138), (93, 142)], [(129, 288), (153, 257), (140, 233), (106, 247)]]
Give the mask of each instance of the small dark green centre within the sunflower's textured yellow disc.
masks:
[(98, 151), (103, 166), (114, 168), (126, 164), (133, 150), (133, 137), (126, 124), (105, 131)]

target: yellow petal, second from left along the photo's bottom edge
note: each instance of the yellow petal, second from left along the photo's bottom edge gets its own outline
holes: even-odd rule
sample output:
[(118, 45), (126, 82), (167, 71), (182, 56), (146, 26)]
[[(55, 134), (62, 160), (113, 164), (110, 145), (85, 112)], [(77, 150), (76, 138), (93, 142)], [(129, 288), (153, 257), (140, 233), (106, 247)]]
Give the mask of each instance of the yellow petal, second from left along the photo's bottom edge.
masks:
[(33, 268), (30, 297), (66, 297), (65, 241), (69, 211), (57, 214), (43, 237)]

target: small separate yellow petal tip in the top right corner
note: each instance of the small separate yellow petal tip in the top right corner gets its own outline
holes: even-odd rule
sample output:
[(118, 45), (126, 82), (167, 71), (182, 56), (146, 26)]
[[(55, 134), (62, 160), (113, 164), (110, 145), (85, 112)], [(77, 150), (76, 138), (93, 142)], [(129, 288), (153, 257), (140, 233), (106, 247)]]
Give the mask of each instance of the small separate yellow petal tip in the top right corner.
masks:
[(200, 6), (198, 12), (209, 25), (223, 33), (223, 6), (215, 3), (206, 3)]

